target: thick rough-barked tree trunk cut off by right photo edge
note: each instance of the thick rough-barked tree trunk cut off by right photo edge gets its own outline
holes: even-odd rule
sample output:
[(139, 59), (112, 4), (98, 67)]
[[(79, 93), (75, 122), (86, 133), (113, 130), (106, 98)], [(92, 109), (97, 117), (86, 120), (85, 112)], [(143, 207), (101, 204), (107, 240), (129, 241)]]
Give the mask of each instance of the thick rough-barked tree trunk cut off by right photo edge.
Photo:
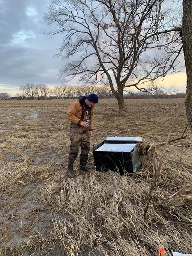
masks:
[(192, 132), (192, 1), (183, 0), (183, 50), (187, 73), (186, 114)]

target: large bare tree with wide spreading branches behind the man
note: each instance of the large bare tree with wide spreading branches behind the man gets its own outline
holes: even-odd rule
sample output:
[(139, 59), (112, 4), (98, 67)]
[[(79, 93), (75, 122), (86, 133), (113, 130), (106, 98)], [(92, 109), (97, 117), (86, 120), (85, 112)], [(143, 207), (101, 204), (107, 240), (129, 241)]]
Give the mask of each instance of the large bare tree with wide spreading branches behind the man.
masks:
[[(110, 84), (120, 110), (123, 91), (175, 71), (179, 33), (162, 11), (166, 0), (50, 0), (45, 35), (62, 35), (63, 80)], [(51, 29), (51, 25), (55, 25)], [(177, 24), (178, 25), (178, 24)], [(73, 57), (72, 57), (73, 56)], [(153, 57), (150, 57), (153, 56)]]

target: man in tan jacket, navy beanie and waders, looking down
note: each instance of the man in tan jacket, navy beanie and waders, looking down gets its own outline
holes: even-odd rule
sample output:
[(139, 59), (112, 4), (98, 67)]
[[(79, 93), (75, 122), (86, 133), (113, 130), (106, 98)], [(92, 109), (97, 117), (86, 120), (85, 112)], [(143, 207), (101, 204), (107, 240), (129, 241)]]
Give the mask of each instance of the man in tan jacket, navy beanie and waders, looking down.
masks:
[[(80, 154), (80, 171), (90, 171), (87, 166), (88, 154), (90, 151), (90, 137), (93, 133), (93, 116), (94, 106), (98, 103), (98, 96), (90, 94), (88, 97), (80, 96), (78, 101), (75, 101), (69, 106), (67, 118), (71, 121), (70, 131), (70, 152), (67, 175), (69, 178), (74, 178), (73, 171), (74, 161), (77, 158), (79, 147)], [(90, 121), (90, 125), (87, 120)]]

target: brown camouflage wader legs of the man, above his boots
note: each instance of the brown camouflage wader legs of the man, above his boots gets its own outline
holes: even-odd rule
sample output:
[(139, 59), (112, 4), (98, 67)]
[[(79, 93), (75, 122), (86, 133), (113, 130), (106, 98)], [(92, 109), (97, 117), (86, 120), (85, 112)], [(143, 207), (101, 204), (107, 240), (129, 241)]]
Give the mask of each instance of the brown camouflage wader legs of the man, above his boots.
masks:
[(79, 147), (81, 147), (80, 165), (86, 166), (88, 154), (90, 151), (89, 129), (84, 126), (71, 123), (70, 140), (71, 146), (69, 152), (69, 162), (72, 164), (76, 160)]

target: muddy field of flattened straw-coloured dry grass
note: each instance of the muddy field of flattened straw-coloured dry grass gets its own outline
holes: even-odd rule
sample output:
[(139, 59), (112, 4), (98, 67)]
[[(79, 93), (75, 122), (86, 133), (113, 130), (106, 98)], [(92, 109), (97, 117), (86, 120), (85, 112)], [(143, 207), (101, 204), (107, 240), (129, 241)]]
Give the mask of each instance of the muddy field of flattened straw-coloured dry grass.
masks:
[[(114, 99), (95, 109), (91, 146), (130, 129), (145, 147), (165, 142), (183, 99)], [(192, 137), (168, 145), (157, 186), (143, 210), (163, 147), (143, 156), (136, 175), (93, 170), (68, 179), (72, 100), (0, 101), (0, 255), (155, 256), (192, 253)], [(187, 126), (183, 108), (171, 139)], [(89, 164), (93, 166), (90, 152)], [(178, 172), (177, 172), (178, 169)], [(78, 174), (78, 160), (75, 163)]]

